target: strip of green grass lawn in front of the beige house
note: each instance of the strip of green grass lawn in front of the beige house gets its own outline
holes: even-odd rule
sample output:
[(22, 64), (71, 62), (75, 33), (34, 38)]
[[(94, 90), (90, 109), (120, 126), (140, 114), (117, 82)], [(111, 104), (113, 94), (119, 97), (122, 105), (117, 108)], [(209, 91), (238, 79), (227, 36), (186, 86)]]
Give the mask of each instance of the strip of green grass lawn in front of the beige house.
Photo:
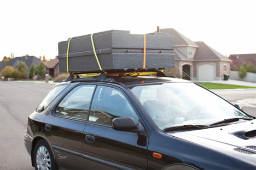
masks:
[(207, 89), (236, 89), (236, 88), (256, 88), (250, 86), (239, 86), (232, 84), (220, 84), (220, 83), (208, 83), (208, 82), (196, 82)]

